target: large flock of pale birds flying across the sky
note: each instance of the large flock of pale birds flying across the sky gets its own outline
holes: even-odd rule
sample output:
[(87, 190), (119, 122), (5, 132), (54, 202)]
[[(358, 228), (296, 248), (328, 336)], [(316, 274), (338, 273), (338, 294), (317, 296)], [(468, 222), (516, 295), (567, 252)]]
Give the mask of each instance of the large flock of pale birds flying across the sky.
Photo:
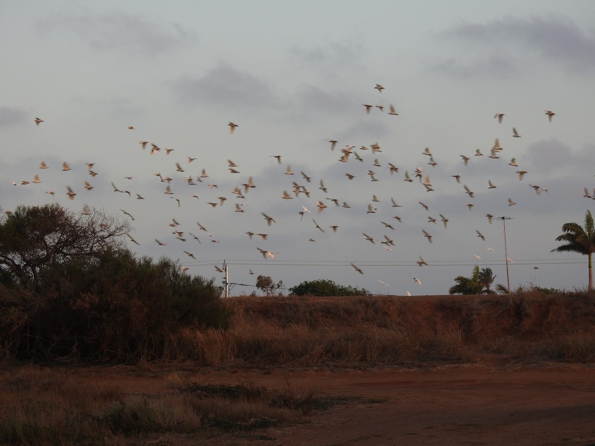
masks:
[[(382, 95), (384, 87), (380, 84), (376, 84), (374, 89), (377, 90), (380, 95)], [(377, 98), (383, 97), (378, 96), (378, 93), (374, 93), (377, 95)], [(386, 93), (384, 93), (386, 94)], [(364, 103), (365, 114), (371, 114), (373, 109), (378, 109), (380, 112), (384, 112), (384, 105), (372, 105), (372, 103)], [(385, 115), (390, 115), (390, 119), (398, 119), (399, 113), (397, 113), (396, 109), (394, 108), (393, 104), (389, 104), (388, 106), (389, 111)], [(546, 110), (545, 115), (547, 116), (547, 120), (552, 123), (552, 118), (555, 116), (553, 111)], [(497, 120), (499, 124), (502, 124), (505, 121), (505, 114), (503, 113), (496, 113), (494, 115), (494, 119)], [(39, 117), (35, 118), (35, 124), (40, 125), (44, 123), (42, 119)], [(44, 123), (43, 125), (46, 125)], [(238, 124), (229, 122), (228, 124), (228, 131), (230, 134), (233, 134), (233, 137), (241, 137), (241, 128)], [(128, 127), (131, 131), (137, 131), (134, 125), (130, 125)], [(512, 127), (512, 137), (520, 138), (521, 134), (517, 131), (516, 127)], [(429, 147), (425, 147), (425, 149), (421, 152), (421, 155), (427, 157), (427, 165), (429, 168), (424, 167), (415, 167), (410, 169), (403, 170), (402, 167), (399, 167), (396, 162), (394, 161), (382, 161), (384, 157), (383, 147), (380, 146), (378, 142), (370, 143), (368, 145), (353, 145), (353, 144), (345, 144), (342, 145), (339, 141), (335, 139), (328, 139), (325, 141), (328, 143), (327, 146), (327, 154), (328, 156), (339, 156), (336, 160), (337, 162), (344, 164), (345, 170), (345, 182), (346, 184), (333, 184), (335, 190), (345, 190), (348, 184), (352, 184), (352, 181), (355, 183), (357, 181), (371, 181), (372, 184), (377, 184), (376, 182), (380, 180), (389, 180), (391, 181), (390, 186), (380, 187), (379, 190), (382, 193), (389, 193), (389, 190), (397, 190), (397, 183), (395, 180), (399, 180), (399, 178), (405, 183), (408, 184), (418, 184), (418, 187), (421, 186), (421, 190), (425, 192), (433, 192), (435, 191), (433, 186), (433, 181), (431, 180), (431, 176), (433, 172), (437, 172), (434, 168), (437, 167), (438, 162), (434, 158), (434, 153)], [(161, 147), (156, 143), (149, 142), (147, 140), (140, 141), (140, 149), (144, 150), (145, 153), (148, 152), (149, 155), (152, 156), (171, 156), (174, 152), (174, 149), (168, 147)], [(500, 155), (503, 151), (503, 148), (500, 146), (500, 141), (498, 138), (494, 140), (493, 145), (488, 147), (486, 150), (485, 158), (490, 159), (499, 159)], [(488, 152), (488, 153), (487, 153)], [(269, 158), (273, 158), (273, 164), (276, 162), (277, 165), (280, 167), (278, 168), (279, 178), (284, 177), (286, 178), (285, 187), (280, 186), (278, 199), (283, 200), (284, 202), (299, 202), (296, 205), (287, 206), (286, 209), (293, 209), (293, 211), (289, 211), (289, 216), (282, 215), (281, 218), (299, 218), (300, 222), (303, 222), (306, 219), (306, 223), (311, 221), (311, 226), (309, 229), (309, 233), (305, 236), (304, 241), (316, 243), (317, 237), (322, 237), (322, 234), (327, 233), (329, 230), (331, 234), (333, 233), (340, 233), (341, 225), (338, 222), (333, 222), (333, 224), (319, 224), (317, 222), (317, 218), (320, 221), (321, 218), (324, 218), (327, 215), (333, 215), (334, 218), (337, 217), (336, 212), (332, 210), (332, 208), (342, 208), (342, 209), (351, 209), (352, 204), (349, 203), (349, 199), (343, 197), (334, 197), (330, 195), (330, 187), (325, 186), (324, 178), (317, 178), (317, 180), (313, 180), (312, 176), (305, 172), (306, 169), (300, 169), (299, 172), (293, 172), (292, 165), (285, 163), (283, 161), (284, 155), (272, 154), (268, 155)], [(459, 163), (461, 168), (465, 168), (469, 165), (472, 159), (484, 157), (484, 153), (482, 153), (481, 149), (476, 149), (475, 153), (471, 154), (461, 154)], [(386, 157), (384, 157), (386, 158)], [(241, 180), (236, 181), (236, 185), (233, 187), (232, 190), (223, 191), (220, 189), (217, 182), (212, 181), (212, 178), (206, 171), (206, 168), (195, 168), (196, 166), (196, 159), (192, 156), (187, 156), (184, 161), (172, 161), (170, 165), (175, 167), (174, 173), (170, 174), (173, 176), (168, 176), (167, 174), (162, 174), (161, 172), (154, 172), (152, 175), (155, 177), (155, 181), (162, 183), (162, 193), (164, 193), (167, 197), (176, 200), (177, 208), (181, 208), (182, 199), (183, 197), (190, 197), (190, 199), (198, 200), (199, 203), (206, 204), (208, 208), (211, 209), (218, 209), (223, 208), (224, 205), (228, 200), (233, 199), (235, 203), (231, 206), (235, 215), (242, 215), (246, 212), (253, 212), (256, 209), (256, 212), (260, 213), (262, 216), (262, 227), (260, 229), (249, 230), (245, 231), (246, 237), (249, 237), (249, 240), (260, 240), (262, 243), (270, 241), (270, 233), (274, 233), (274, 227), (277, 225), (278, 216), (277, 215), (269, 215), (270, 211), (267, 209), (263, 209), (262, 205), (259, 203), (252, 204), (252, 200), (249, 200), (251, 196), (250, 191), (255, 188), (259, 187), (258, 181), (253, 180), (253, 176), (248, 176), (242, 174), (241, 167), (234, 163), (231, 159), (227, 159), (227, 171), (230, 175), (237, 175), (241, 177)], [(303, 161), (303, 160), (300, 160)], [(165, 161), (163, 161), (165, 165)], [(511, 166), (512, 172), (517, 175), (519, 181), (523, 181), (525, 175), (528, 174), (523, 168), (519, 167), (516, 163), (516, 158), (510, 158), (508, 165)], [(46, 165), (45, 161), (40, 161), (39, 169), (45, 170), (50, 168)], [(172, 167), (173, 168), (173, 167)], [(68, 162), (63, 162), (61, 166), (62, 171), (68, 172), (71, 170), (70, 165)], [(428, 172), (429, 171), (429, 172)], [(95, 171), (95, 164), (89, 162), (86, 164), (86, 173), (89, 175), (88, 180), (84, 180), (83, 184), (75, 187), (74, 184), (65, 184), (64, 190), (67, 198), (69, 200), (75, 200), (77, 197), (80, 197), (82, 193), (81, 189), (86, 191), (91, 191), (94, 189), (95, 185), (93, 184), (96, 175), (98, 173)], [(400, 176), (401, 175), (401, 176)], [(450, 175), (453, 178), (452, 181), (456, 181), (458, 184), (462, 184), (462, 193), (466, 194), (466, 203), (464, 205), (468, 208), (469, 211), (472, 211), (474, 208), (473, 199), (475, 197), (475, 191), (472, 190), (472, 187), (465, 182), (465, 176), (461, 174), (454, 174)], [(100, 177), (101, 178), (101, 177)], [(124, 177), (127, 181), (134, 181), (136, 177), (127, 176)], [(497, 185), (494, 184), (493, 180), (486, 178), (486, 190), (496, 189)], [(115, 183), (118, 180), (111, 181), (111, 187), (114, 193), (122, 193), (126, 194), (130, 199), (135, 201), (141, 202), (145, 200), (145, 196), (143, 194), (137, 193), (137, 191), (131, 191), (131, 187), (120, 187), (117, 186)], [(42, 180), (40, 178), (40, 174), (36, 174), (33, 176), (33, 180), (27, 181), (23, 180), (20, 182), (12, 181), (14, 186), (26, 186), (27, 184), (33, 183), (41, 183)], [(278, 181), (281, 183), (281, 181)], [(399, 183), (404, 184), (404, 183)], [(181, 185), (185, 187), (203, 187), (203, 192), (199, 193), (195, 191), (195, 189), (191, 189), (192, 193), (181, 195), (179, 189)], [(547, 189), (542, 186), (537, 186), (535, 184), (529, 184), (531, 188), (534, 189), (535, 193), (540, 195), (541, 193), (547, 193)], [(405, 187), (405, 186), (399, 186)], [(407, 187), (414, 187), (414, 186), (407, 186)], [(281, 191), (282, 190), (282, 191)], [(411, 196), (411, 190), (406, 194), (408, 197)], [(57, 192), (55, 190), (46, 190), (46, 194), (54, 197)], [(252, 193), (253, 194), (253, 193)], [(399, 215), (399, 209), (402, 205), (399, 204), (397, 199), (394, 197), (390, 197), (389, 199), (379, 199), (377, 194), (372, 194), (369, 199), (367, 205), (365, 205), (364, 209), (358, 208), (357, 211), (353, 211), (357, 213), (357, 215), (362, 215), (365, 213), (369, 218), (374, 218), (374, 216), (378, 215), (378, 228), (383, 228), (384, 233), (381, 236), (378, 235), (368, 235), (368, 231), (366, 233), (362, 233), (362, 238), (369, 244), (382, 247), (384, 250), (392, 251), (396, 246), (394, 241), (394, 235), (391, 235), (392, 231), (397, 231), (397, 225), (403, 222), (402, 216)], [(206, 197), (206, 199), (205, 199)], [(591, 194), (587, 188), (585, 188), (585, 197), (595, 197), (595, 190), (593, 194)], [(440, 218), (441, 226), (446, 230), (449, 224), (449, 217), (444, 215), (444, 213), (437, 213), (438, 217), (431, 215), (430, 207), (424, 203), (425, 200), (419, 200), (417, 203), (427, 212), (427, 221), (424, 222), (426, 225), (424, 228), (420, 229), (420, 237), (424, 237), (427, 240), (427, 243), (433, 243), (434, 235), (433, 229), (439, 225), (438, 217)], [(250, 204), (248, 204), (250, 203)], [(379, 205), (378, 203), (382, 203)], [(512, 197), (508, 198), (508, 206), (514, 206), (516, 202), (512, 199)], [(353, 207), (356, 206), (353, 204)], [(226, 209), (230, 206), (226, 206)], [(248, 210), (250, 208), (250, 211)], [(379, 208), (382, 208), (381, 212)], [(388, 210), (387, 210), (388, 209)], [(123, 215), (126, 215), (126, 218), (129, 218), (131, 221), (135, 220), (135, 212), (131, 211), (130, 209), (123, 209), (120, 208), (120, 211)], [(265, 212), (266, 211), (266, 212)], [(10, 211), (7, 211), (10, 212)], [(83, 213), (89, 213), (89, 206), (84, 203), (83, 205)], [(204, 212), (204, 211), (203, 211)], [(394, 215), (389, 215), (389, 212)], [(444, 212), (444, 211), (443, 211)], [(457, 211), (460, 212), (460, 211)], [(350, 214), (349, 217), (346, 217), (347, 220), (349, 218), (353, 218), (355, 213)], [(381, 214), (381, 215), (380, 215)], [(293, 217), (292, 215), (295, 215)], [(221, 216), (223, 219), (228, 219), (229, 215)], [(390, 220), (389, 220), (390, 218)], [(486, 213), (487, 222), (491, 223), (494, 216), (491, 213)], [(193, 222), (193, 228), (189, 227), (189, 224), (185, 224), (184, 227), (180, 224), (181, 219), (177, 216), (171, 217), (171, 222), (168, 223), (167, 230), (161, 235), (154, 237), (151, 242), (155, 243), (155, 246), (167, 246), (169, 240), (165, 239), (164, 237), (169, 237), (170, 234), (174, 235), (174, 238), (177, 241), (186, 242), (189, 241), (190, 243), (194, 242), (197, 244), (202, 244), (201, 238), (203, 240), (208, 240), (209, 243), (220, 243), (220, 240), (211, 234), (205, 226), (203, 226), (199, 221)], [(199, 235), (196, 235), (192, 231), (196, 230)], [(486, 237), (481, 233), (479, 230), (475, 230), (477, 233), (477, 237), (480, 240), (485, 241)], [(395, 232), (397, 233), (397, 232)], [(316, 235), (318, 234), (318, 235)], [(147, 243), (146, 240), (137, 241), (133, 234), (127, 234), (131, 243), (140, 245), (142, 243)], [(325, 234), (324, 236), (327, 236)], [(174, 242), (177, 243), (177, 242)], [(274, 259), (275, 252), (271, 248), (262, 249), (260, 246), (254, 245), (255, 254), (262, 255), (264, 259)], [(187, 249), (181, 250), (185, 256), (189, 259), (196, 260), (195, 249), (198, 249), (198, 246), (195, 245), (195, 248), (188, 247)], [(487, 247), (486, 249), (493, 251), (492, 248)], [(481, 259), (481, 256), (474, 255), (476, 259)], [(507, 261), (512, 262), (512, 260), (507, 259)], [(427, 266), (428, 263), (419, 256), (419, 260), (416, 260), (416, 264), (418, 266)], [(361, 266), (355, 265), (355, 263), (350, 263), (353, 271), (364, 274), (364, 269)], [(189, 266), (182, 265), (182, 271), (188, 271)], [(535, 267), (537, 268), (537, 267)], [(220, 266), (215, 265), (215, 269), (217, 272), (223, 272), (223, 269)], [(249, 269), (249, 274), (253, 274), (252, 269)], [(421, 279), (417, 277), (413, 277), (414, 282), (421, 285)], [(380, 280), (379, 280), (380, 281)], [(381, 284), (387, 285), (386, 282), (380, 281)], [(408, 293), (409, 294), (409, 293)]]

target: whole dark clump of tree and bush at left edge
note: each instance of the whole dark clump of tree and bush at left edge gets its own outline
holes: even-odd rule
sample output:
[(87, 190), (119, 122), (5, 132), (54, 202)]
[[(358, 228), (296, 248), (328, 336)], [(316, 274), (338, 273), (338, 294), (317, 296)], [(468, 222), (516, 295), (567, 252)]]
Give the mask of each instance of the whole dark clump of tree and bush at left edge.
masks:
[(175, 359), (167, 346), (181, 329), (227, 326), (214, 279), (183, 274), (167, 257), (135, 257), (124, 247), (129, 230), (103, 212), (59, 205), (2, 216), (0, 355)]

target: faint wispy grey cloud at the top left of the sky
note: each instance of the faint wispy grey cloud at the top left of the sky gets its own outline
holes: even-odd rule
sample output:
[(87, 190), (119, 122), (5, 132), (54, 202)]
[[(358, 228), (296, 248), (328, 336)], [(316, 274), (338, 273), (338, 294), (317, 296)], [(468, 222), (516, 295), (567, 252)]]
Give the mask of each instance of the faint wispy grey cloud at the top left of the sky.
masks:
[(157, 23), (120, 11), (102, 14), (89, 10), (62, 11), (60, 16), (39, 21), (37, 27), (41, 33), (57, 30), (73, 33), (100, 51), (124, 49), (145, 55), (183, 46), (195, 38), (193, 32), (184, 30), (178, 23)]

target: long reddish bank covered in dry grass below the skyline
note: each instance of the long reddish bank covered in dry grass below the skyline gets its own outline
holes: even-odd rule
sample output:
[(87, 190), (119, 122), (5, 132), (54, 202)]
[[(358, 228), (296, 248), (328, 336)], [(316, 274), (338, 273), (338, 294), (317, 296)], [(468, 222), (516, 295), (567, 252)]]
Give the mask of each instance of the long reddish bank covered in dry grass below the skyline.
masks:
[(226, 330), (186, 329), (168, 359), (205, 366), (594, 362), (595, 299), (536, 290), (403, 299), (237, 297)]

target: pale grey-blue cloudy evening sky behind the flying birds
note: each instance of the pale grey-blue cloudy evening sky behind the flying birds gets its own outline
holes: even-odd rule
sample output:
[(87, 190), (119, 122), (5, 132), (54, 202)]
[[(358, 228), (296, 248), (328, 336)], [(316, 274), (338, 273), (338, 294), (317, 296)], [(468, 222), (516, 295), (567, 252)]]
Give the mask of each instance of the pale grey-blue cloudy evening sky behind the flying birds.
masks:
[(474, 265), (582, 289), (586, 257), (551, 250), (595, 208), (594, 19), (591, 1), (2, 2), (0, 205), (128, 218), (138, 256), (216, 284), (225, 261), (232, 296), (258, 275), (447, 294)]

